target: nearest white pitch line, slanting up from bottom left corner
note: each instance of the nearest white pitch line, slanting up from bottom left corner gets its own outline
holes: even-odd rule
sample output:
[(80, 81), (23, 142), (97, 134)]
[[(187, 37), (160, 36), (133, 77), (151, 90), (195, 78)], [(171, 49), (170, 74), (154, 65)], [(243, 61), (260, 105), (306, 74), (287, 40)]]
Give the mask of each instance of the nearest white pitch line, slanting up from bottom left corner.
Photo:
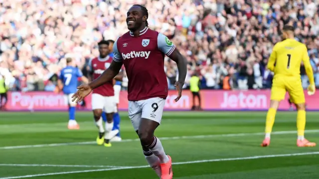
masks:
[[(275, 158), (275, 157), (292, 157), (292, 156), (305, 156), (305, 155), (318, 155), (318, 154), (319, 154), (319, 152), (307, 152), (307, 153), (294, 153), (294, 154), (251, 156), (251, 157), (240, 157), (240, 158), (198, 160), (198, 161), (189, 161), (189, 162), (176, 162), (176, 163), (173, 163), (173, 165), (198, 164), (198, 163), (221, 162), (221, 161), (252, 160), (252, 159), (264, 159), (264, 158)], [(89, 172), (103, 172), (103, 171), (116, 171), (116, 170), (127, 170), (127, 169), (140, 169), (140, 168), (148, 168), (148, 167), (150, 167), (150, 166), (119, 167), (119, 168), (112, 168), (112, 169), (96, 169), (96, 170), (84, 170), (84, 171), (73, 171), (73, 172), (58, 172), (58, 173), (36, 174), (36, 175), (26, 175), (26, 176), (16, 176), (16, 177), (4, 177), (4, 178), (0, 178), (0, 179), (23, 179), (23, 178), (33, 178), (33, 177), (43, 177), (43, 176), (53, 176), (53, 175), (66, 175), (66, 174), (79, 174), (79, 173), (89, 173)]]

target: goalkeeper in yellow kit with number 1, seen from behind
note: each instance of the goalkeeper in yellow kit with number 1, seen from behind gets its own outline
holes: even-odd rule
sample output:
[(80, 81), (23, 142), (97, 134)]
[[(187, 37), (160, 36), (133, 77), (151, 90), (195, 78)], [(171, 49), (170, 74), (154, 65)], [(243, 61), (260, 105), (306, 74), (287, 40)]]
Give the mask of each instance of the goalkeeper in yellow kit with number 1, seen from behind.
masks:
[[(316, 87), (314, 82), (313, 69), (310, 64), (307, 47), (305, 44), (298, 42), (294, 38), (294, 27), (285, 25), (283, 28), (283, 38), (285, 40), (278, 42), (270, 55), (267, 68), (275, 73), (273, 86), (271, 89), (270, 108), (266, 118), (265, 139), (263, 147), (270, 144), (270, 133), (272, 131), (275, 115), (279, 102), (285, 98), (286, 91), (292, 101), (297, 106), (297, 146), (314, 147), (316, 143), (309, 142), (305, 139), (306, 111), (305, 111), (305, 94), (300, 77), (300, 66), (304, 63), (310, 86), (308, 94), (313, 95)], [(276, 66), (275, 66), (276, 64)]]

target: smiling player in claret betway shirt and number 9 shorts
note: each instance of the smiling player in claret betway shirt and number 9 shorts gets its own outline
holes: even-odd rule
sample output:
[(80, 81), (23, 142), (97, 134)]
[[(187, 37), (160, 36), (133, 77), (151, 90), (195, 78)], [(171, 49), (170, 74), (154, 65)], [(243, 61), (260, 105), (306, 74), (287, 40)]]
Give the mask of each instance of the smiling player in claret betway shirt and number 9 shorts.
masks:
[(164, 56), (175, 61), (178, 67), (175, 101), (181, 97), (187, 62), (165, 35), (149, 29), (148, 16), (148, 10), (142, 5), (129, 9), (126, 20), (130, 31), (114, 43), (110, 67), (89, 85), (80, 86), (73, 100), (82, 101), (92, 89), (113, 79), (124, 64), (129, 79), (129, 117), (140, 137), (145, 158), (161, 179), (172, 179), (171, 158), (165, 154), (154, 131), (160, 125), (168, 92)]

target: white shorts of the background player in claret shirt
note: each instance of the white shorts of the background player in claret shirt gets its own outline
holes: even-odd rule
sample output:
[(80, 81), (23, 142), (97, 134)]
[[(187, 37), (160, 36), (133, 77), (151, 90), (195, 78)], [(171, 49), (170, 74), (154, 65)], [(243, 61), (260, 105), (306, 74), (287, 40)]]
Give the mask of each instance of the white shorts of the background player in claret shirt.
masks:
[(103, 96), (101, 94), (92, 94), (92, 110), (102, 109), (106, 113), (117, 112), (114, 96)]

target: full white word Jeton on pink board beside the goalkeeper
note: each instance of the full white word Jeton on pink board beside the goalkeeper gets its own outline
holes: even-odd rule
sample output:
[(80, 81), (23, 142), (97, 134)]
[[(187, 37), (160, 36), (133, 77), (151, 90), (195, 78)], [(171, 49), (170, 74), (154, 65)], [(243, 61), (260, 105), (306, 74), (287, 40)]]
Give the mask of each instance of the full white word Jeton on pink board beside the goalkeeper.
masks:
[(229, 94), (224, 92), (222, 108), (267, 108), (266, 94)]

